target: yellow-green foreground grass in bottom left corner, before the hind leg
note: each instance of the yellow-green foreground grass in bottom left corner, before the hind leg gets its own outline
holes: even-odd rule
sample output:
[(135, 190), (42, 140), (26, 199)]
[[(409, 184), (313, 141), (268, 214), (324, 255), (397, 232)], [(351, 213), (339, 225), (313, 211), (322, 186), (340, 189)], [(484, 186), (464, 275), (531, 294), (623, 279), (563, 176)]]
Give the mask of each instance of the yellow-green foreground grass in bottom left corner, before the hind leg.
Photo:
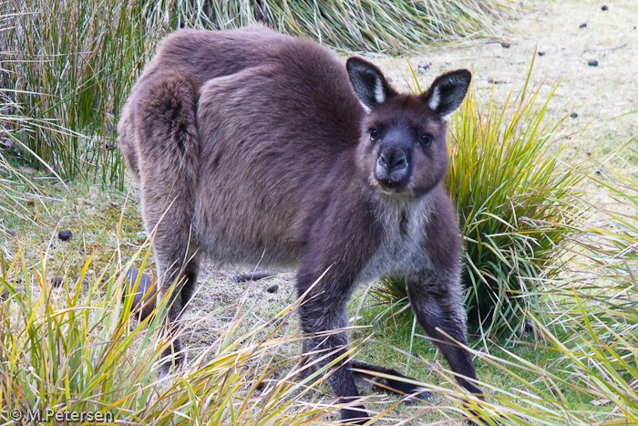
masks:
[(111, 265), (89, 280), (89, 257), (77, 281), (54, 288), (45, 264), (29, 270), (19, 253), (11, 265), (3, 263), (3, 423), (9, 410), (101, 411), (132, 425), (303, 425), (324, 414), (307, 396), (316, 375), (298, 382), (294, 372), (270, 377), (282, 367), (278, 349), (295, 339), (272, 323), (240, 333), (242, 317), (235, 315), (210, 348), (183, 369), (158, 376), (160, 354), (170, 344), (160, 333), (163, 316), (132, 319), (122, 273)]

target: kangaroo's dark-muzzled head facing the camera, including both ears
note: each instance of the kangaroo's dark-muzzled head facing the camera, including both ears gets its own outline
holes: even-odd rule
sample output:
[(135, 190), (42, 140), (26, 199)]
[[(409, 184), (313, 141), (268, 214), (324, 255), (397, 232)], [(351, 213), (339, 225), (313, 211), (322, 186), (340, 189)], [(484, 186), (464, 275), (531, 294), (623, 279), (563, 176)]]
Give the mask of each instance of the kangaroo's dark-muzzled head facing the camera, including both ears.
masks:
[(447, 119), (468, 91), (467, 69), (447, 72), (419, 95), (400, 94), (373, 64), (346, 63), (355, 94), (365, 109), (358, 166), (368, 182), (389, 196), (419, 196), (448, 170)]

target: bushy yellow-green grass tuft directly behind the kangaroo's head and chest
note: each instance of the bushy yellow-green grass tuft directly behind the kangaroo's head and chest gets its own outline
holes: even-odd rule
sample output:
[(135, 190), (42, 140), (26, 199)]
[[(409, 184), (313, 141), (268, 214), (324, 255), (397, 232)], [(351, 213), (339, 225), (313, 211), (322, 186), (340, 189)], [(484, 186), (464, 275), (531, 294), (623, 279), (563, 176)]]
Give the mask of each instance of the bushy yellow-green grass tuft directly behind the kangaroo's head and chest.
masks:
[[(587, 214), (581, 165), (561, 160), (554, 148), (561, 120), (545, 117), (556, 87), (542, 99), (530, 74), (516, 96), (512, 88), (487, 111), (470, 88), (450, 119), (447, 184), (465, 240), (468, 323), (484, 338), (520, 331), (525, 313), (538, 309), (543, 283), (561, 274), (570, 236)], [(398, 300), (406, 289), (390, 280), (376, 294)]]

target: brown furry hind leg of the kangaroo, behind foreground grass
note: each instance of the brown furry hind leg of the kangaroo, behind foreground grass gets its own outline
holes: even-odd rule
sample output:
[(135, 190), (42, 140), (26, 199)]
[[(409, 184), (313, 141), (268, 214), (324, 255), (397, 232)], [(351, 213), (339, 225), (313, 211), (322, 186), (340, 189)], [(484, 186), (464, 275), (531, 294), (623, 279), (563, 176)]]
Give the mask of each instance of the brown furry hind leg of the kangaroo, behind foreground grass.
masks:
[[(200, 151), (198, 89), (179, 70), (159, 71), (140, 84), (130, 108), (135, 109), (142, 218), (152, 235), (160, 294), (177, 282), (167, 316), (168, 328), (174, 329), (199, 265), (192, 229)], [(179, 338), (173, 350), (180, 352)]]

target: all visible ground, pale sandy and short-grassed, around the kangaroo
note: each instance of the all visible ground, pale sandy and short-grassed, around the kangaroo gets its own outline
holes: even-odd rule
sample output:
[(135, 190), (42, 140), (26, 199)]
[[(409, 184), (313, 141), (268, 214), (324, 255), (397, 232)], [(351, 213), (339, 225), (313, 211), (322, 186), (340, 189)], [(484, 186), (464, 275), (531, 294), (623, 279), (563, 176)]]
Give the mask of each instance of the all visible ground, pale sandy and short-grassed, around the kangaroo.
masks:
[[(554, 119), (564, 118), (568, 128), (561, 133), (561, 138), (557, 137), (555, 143), (567, 143), (569, 150), (578, 151), (577, 155), (582, 158), (595, 155), (602, 165), (611, 167), (613, 171), (635, 173), (638, 164), (638, 144), (632, 138), (638, 135), (638, 115), (629, 113), (638, 111), (638, 4), (635, 0), (607, 3), (605, 5), (608, 8), (604, 11), (603, 4), (573, 0), (530, 2), (526, 5), (533, 10), (528, 10), (506, 26), (504, 38), (507, 44), (464, 42), (441, 47), (424, 47), (422, 53), (409, 57), (367, 57), (374, 61), (400, 90), (407, 90), (409, 86), (413, 86), (408, 64), (417, 71), (421, 88), (427, 88), (427, 85), (442, 72), (468, 68), (473, 74), (472, 84), (479, 102), (486, 106), (489, 105), (492, 91), (497, 104), (508, 96), (512, 88), (514, 94), (518, 93), (533, 60), (530, 84), (544, 84), (543, 93), (549, 92), (553, 85), (558, 84), (549, 113)], [(597, 61), (597, 66), (588, 65), (592, 59)], [(617, 150), (625, 144), (629, 145), (618, 153)], [(600, 168), (604, 174), (607, 171), (601, 164), (592, 164), (592, 167)], [(61, 207), (61, 203), (55, 200), (47, 201), (52, 203), (49, 212), (40, 205), (33, 206), (34, 211), (40, 209), (38, 216), (44, 223), (40, 234), (49, 235), (51, 239), (33, 243), (33, 240), (29, 239), (26, 233), (22, 234), (21, 230), (18, 230), (17, 239), (20, 240), (24, 236), (23, 244), (34, 245), (31, 247), (35, 248), (32, 250), (34, 253), (42, 249), (46, 253), (51, 253), (52, 258), (60, 255), (65, 258), (64, 254), (69, 250), (82, 251), (85, 255), (90, 255), (95, 248), (103, 245), (101, 242), (109, 238), (108, 234), (115, 232), (116, 226), (109, 223), (117, 222), (119, 213), (124, 210), (121, 242), (124, 246), (135, 249), (143, 241), (139, 202), (135, 190), (132, 189), (133, 183), (128, 181), (127, 185), (128, 189), (124, 194), (96, 194), (95, 188), (80, 190), (83, 195), (78, 197), (59, 192), (66, 207)], [(595, 187), (592, 187), (592, 190), (595, 191)], [(128, 207), (123, 209), (125, 202)], [(603, 199), (599, 202), (608, 203), (609, 200)], [(82, 224), (82, 218), (88, 216), (100, 216), (104, 219), (96, 220), (90, 225)], [(55, 239), (56, 231), (66, 227), (74, 231), (72, 245), (65, 245)], [(110, 239), (112, 240), (112, 236)], [(13, 247), (14, 240), (14, 237), (6, 237), (4, 241), (7, 246)], [(48, 252), (49, 250), (52, 252)], [(53, 255), (54, 253), (57, 255)], [(120, 262), (125, 263), (127, 255), (129, 254), (124, 250)], [(64, 265), (58, 269), (61, 272), (52, 275), (66, 275), (69, 280), (74, 280), (80, 267), (81, 265)], [(152, 273), (152, 269), (147, 268), (146, 272)], [(185, 342), (192, 349), (191, 355), (206, 348), (207, 344), (218, 336), (220, 327), (232, 318), (236, 310), (228, 310), (229, 306), (236, 307), (242, 302), (244, 306), (256, 307), (251, 310), (245, 321), (244, 327), (250, 328), (269, 321), (277, 312), (293, 302), (293, 272), (244, 284), (232, 282), (233, 275), (244, 272), (249, 272), (244, 265), (223, 268), (203, 265), (198, 294), (193, 298), (184, 316), (186, 321), (205, 317), (185, 335)], [(277, 284), (278, 289), (268, 292), (267, 288), (273, 284)], [(385, 327), (406, 327), (405, 324), (396, 324), (397, 320), (404, 317), (381, 320), (376, 317), (382, 310), (380, 307), (370, 308), (365, 314), (361, 314), (358, 308), (363, 293), (362, 288), (351, 305), (351, 316), (357, 317), (353, 324), (376, 325), (353, 333), (355, 341), (369, 339), (365, 343), (361, 358), (381, 364), (387, 364), (387, 358), (390, 358), (393, 367), (402, 372), (414, 375), (418, 379), (440, 381), (437, 374), (433, 373), (433, 370), (438, 368), (437, 359), (440, 358), (437, 358), (436, 351), (429, 344), (418, 337), (418, 329), (417, 340), (420, 341), (415, 343), (413, 348), (405, 346), (405, 339), (393, 341), (386, 338)], [(367, 304), (374, 304), (369, 297), (365, 300)], [(225, 314), (220, 314), (221, 312)], [(380, 321), (388, 323), (380, 324)], [(291, 329), (296, 330), (296, 323), (290, 323)], [(407, 328), (410, 329), (411, 324), (408, 324)], [(399, 348), (393, 348), (394, 345)], [(410, 345), (409, 341), (407, 345)], [(411, 351), (407, 353), (417, 355), (407, 357), (400, 354), (401, 350), (408, 349)], [(291, 345), (289, 348), (283, 348), (282, 356), (293, 357), (299, 351), (300, 345)], [(526, 352), (525, 349), (521, 349), (520, 353), (530, 357), (539, 356)], [(497, 370), (491, 370), (480, 363), (477, 367), (481, 379), (487, 382), (499, 379)], [(435, 397), (426, 404), (431, 403), (447, 402)], [(404, 407), (400, 410), (397, 415), (405, 416), (406, 411), (412, 409)]]

